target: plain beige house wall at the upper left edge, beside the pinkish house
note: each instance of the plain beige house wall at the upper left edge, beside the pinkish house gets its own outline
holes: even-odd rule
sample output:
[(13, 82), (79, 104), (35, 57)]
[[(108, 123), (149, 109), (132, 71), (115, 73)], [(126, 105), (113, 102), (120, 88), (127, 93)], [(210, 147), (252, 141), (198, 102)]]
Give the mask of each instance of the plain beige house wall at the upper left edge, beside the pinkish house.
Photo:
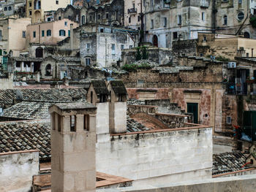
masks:
[(20, 56), (20, 51), (26, 48), (26, 38), (23, 38), (23, 31), (31, 24), (30, 18), (8, 18), (0, 20), (0, 30), (2, 31), (2, 41), (0, 49), (7, 53), (12, 50), (13, 56)]

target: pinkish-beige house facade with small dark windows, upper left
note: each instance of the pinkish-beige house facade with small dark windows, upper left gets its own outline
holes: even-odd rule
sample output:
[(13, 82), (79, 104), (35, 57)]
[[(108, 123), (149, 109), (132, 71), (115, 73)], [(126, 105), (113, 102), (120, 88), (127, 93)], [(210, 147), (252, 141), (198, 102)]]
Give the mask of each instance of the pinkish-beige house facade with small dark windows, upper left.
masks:
[[(65, 22), (67, 22), (67, 26), (65, 26)], [(66, 39), (68, 36), (68, 31), (70, 30), (70, 23), (73, 24), (73, 28), (77, 28), (79, 26), (78, 23), (75, 23), (68, 19), (57, 20), (48, 23), (39, 23), (39, 24), (31, 24), (27, 26), (27, 38), (30, 43), (45, 43), (45, 44), (56, 44), (63, 39)], [(39, 33), (40, 28), (40, 33)], [(59, 30), (65, 30), (66, 36), (59, 36)], [(42, 37), (42, 30), (45, 31), (45, 37)], [(47, 30), (51, 30), (51, 36), (47, 36)], [(33, 31), (36, 31), (36, 37), (33, 36)]]

